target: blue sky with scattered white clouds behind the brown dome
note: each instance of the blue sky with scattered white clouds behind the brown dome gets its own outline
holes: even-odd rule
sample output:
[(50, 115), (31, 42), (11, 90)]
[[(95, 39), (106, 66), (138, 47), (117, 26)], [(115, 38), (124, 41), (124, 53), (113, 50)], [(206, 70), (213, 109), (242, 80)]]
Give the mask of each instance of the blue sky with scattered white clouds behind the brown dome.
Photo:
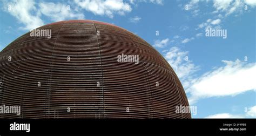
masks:
[[(197, 106), (193, 118), (255, 118), (255, 10), (253, 0), (2, 0), (0, 51), (44, 24), (69, 19), (112, 23), (166, 58), (190, 105)], [(227, 38), (207, 37), (210, 28), (226, 30)]]

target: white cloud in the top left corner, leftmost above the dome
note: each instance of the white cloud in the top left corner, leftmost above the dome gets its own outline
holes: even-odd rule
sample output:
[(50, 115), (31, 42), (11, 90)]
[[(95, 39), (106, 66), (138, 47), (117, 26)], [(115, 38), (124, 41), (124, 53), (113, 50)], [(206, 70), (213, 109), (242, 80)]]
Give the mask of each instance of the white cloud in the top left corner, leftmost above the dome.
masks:
[(40, 18), (41, 13), (36, 9), (35, 1), (33, 0), (4, 1), (4, 10), (14, 16), (18, 22), (25, 25), (20, 29), (31, 30), (44, 25), (44, 22)]

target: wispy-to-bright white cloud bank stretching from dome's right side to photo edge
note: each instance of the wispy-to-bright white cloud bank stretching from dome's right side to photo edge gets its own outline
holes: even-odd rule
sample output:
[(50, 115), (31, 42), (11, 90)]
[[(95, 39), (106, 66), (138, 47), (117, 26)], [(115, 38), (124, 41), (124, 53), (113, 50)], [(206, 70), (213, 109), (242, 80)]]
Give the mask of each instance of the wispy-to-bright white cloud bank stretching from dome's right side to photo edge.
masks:
[[(188, 101), (194, 104), (199, 99), (210, 97), (235, 96), (246, 91), (256, 91), (256, 63), (222, 60), (224, 66), (215, 67), (198, 76), (200, 67), (188, 58), (188, 51), (171, 47), (164, 56), (190, 94)], [(187, 58), (187, 60), (186, 60)], [(250, 113), (250, 112), (248, 112)]]

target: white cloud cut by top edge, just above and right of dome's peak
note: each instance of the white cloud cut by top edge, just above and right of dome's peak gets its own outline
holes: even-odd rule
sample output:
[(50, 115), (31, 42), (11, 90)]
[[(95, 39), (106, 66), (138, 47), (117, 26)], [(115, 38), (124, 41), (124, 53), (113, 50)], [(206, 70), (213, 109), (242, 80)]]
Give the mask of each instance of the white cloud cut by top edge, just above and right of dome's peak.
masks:
[(128, 3), (124, 3), (123, 0), (75, 0), (75, 3), (80, 8), (90, 11), (95, 15), (106, 15), (110, 18), (113, 18), (114, 13), (125, 15), (126, 12), (132, 11), (131, 6)]

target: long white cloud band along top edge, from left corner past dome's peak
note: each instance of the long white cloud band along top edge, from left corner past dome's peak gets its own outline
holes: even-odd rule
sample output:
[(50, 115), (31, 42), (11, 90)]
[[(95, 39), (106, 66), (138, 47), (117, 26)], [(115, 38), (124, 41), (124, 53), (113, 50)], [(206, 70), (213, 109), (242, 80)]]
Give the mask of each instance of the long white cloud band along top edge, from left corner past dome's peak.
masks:
[(49, 17), (52, 21), (62, 21), (65, 19), (84, 19), (83, 9), (95, 15), (106, 15), (110, 18), (113, 18), (114, 14), (125, 15), (125, 13), (132, 11), (129, 3), (122, 0), (75, 0), (70, 3), (74, 6), (78, 5), (78, 8), (72, 9), (72, 6), (70, 6), (69, 10), (68, 5), (64, 3), (36, 3), (34, 0), (3, 1), (3, 8), (4, 11), (14, 16), (19, 23), (24, 24), (21, 27), (23, 30), (31, 30), (44, 25), (42, 15)]

